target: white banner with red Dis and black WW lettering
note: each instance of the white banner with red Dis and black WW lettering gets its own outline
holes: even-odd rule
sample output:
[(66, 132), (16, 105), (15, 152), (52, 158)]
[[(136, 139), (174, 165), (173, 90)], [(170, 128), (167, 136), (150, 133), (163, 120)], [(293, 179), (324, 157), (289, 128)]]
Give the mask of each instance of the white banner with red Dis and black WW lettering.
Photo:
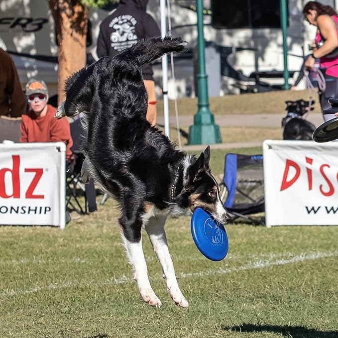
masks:
[(263, 142), (266, 225), (338, 225), (338, 142)]

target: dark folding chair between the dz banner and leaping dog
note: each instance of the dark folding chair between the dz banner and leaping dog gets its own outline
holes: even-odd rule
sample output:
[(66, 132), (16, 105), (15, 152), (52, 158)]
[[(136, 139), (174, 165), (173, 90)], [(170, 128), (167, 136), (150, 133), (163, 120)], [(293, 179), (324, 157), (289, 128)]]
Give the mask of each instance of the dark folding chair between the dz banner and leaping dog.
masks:
[[(67, 168), (66, 172), (66, 208), (68, 211), (76, 211), (80, 215), (86, 215), (88, 211), (96, 211), (97, 205), (93, 179), (88, 184), (82, 183), (81, 180), (81, 167), (85, 156), (80, 150), (81, 137), (84, 133), (80, 118), (70, 123), (70, 132), (73, 139), (71, 150), (75, 161)], [(81, 196), (84, 196), (84, 204), (80, 202)]]

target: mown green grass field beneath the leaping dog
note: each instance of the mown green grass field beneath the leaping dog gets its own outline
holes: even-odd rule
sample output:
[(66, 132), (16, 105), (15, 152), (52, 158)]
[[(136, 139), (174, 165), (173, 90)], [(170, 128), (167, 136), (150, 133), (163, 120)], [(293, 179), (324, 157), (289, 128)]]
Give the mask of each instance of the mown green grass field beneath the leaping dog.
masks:
[[(216, 176), (231, 150), (212, 152)], [(338, 337), (337, 227), (230, 224), (229, 253), (212, 262), (194, 245), (190, 218), (171, 218), (169, 247), (190, 307), (171, 301), (144, 236), (163, 303), (155, 309), (131, 279), (116, 218), (108, 199), (64, 230), (0, 227), (0, 338)]]

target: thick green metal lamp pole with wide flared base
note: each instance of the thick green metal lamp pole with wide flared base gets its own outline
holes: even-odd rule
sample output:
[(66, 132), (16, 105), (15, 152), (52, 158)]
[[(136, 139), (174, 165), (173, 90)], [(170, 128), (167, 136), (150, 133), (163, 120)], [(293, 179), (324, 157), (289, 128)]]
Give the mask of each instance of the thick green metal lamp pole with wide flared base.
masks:
[(215, 124), (214, 115), (209, 110), (208, 81), (205, 67), (205, 43), (203, 33), (203, 0), (196, 0), (198, 33), (198, 111), (194, 125), (189, 128), (189, 144), (222, 143), (220, 127)]

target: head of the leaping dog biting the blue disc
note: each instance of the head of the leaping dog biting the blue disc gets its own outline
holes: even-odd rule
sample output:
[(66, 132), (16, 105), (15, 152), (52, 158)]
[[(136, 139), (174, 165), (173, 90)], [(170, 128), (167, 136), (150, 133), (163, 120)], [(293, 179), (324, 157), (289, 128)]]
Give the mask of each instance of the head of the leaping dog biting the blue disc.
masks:
[(211, 174), (210, 147), (184, 168), (183, 189), (176, 197), (179, 208), (193, 213), (195, 209), (202, 208), (214, 219), (222, 224), (230, 220), (224, 204), (220, 198), (219, 185)]

